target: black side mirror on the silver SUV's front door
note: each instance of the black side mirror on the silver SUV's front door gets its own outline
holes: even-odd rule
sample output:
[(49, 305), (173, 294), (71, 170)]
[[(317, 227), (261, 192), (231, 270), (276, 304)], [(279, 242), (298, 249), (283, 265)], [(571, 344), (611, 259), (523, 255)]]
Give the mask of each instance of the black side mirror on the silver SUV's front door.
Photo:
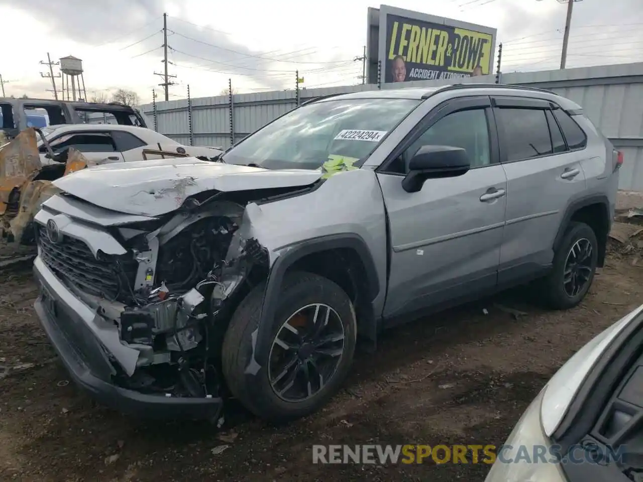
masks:
[(418, 192), (427, 179), (457, 177), (471, 168), (467, 151), (453, 146), (422, 146), (408, 163), (402, 180), (406, 192)]

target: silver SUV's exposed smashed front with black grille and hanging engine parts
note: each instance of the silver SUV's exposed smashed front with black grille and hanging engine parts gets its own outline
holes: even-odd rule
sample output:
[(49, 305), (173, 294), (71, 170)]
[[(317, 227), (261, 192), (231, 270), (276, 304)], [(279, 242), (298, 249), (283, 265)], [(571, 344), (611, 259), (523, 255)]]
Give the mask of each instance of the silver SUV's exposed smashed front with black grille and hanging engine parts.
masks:
[(95, 255), (82, 240), (39, 223), (42, 261), (118, 328), (120, 344), (138, 351), (131, 367), (111, 356), (118, 386), (166, 397), (220, 396), (222, 337), (237, 300), (266, 278), (268, 256), (244, 224), (245, 202), (210, 202), (215, 197), (192, 198), (158, 223), (109, 228), (125, 254)]

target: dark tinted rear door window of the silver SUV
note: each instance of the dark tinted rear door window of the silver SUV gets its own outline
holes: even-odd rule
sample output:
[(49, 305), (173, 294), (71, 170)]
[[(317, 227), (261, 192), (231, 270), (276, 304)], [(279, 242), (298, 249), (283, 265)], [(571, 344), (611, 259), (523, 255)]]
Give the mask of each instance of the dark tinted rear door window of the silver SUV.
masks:
[(507, 161), (521, 161), (552, 154), (552, 139), (545, 111), (540, 109), (499, 109), (505, 134)]

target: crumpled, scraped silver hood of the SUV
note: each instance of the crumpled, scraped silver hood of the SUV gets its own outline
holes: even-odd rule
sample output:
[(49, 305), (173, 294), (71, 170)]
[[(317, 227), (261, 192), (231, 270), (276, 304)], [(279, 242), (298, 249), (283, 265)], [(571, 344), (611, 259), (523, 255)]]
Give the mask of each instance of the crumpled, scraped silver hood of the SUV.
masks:
[(204, 191), (233, 192), (306, 186), (321, 170), (267, 170), (194, 157), (94, 166), (54, 181), (60, 190), (109, 210), (159, 216)]

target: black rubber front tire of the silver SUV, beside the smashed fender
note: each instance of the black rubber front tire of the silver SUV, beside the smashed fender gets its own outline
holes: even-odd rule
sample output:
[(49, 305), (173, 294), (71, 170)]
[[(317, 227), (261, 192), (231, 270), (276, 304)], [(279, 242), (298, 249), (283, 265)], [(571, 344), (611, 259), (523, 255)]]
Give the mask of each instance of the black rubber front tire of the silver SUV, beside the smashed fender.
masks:
[[(276, 301), (275, 322), (271, 326), (270, 336), (267, 339), (269, 344), (266, 347), (267, 355), (264, 359), (257, 360), (260, 369), (256, 375), (246, 374), (246, 367), (253, 353), (252, 334), (257, 330), (265, 287), (265, 283), (262, 283), (251, 290), (235, 310), (230, 320), (230, 326), (228, 326), (224, 336), (222, 371), (232, 395), (238, 398), (249, 411), (269, 422), (287, 422), (314, 413), (325, 405), (340, 389), (352, 364), (356, 345), (357, 321), (349, 296), (336, 283), (309, 272), (296, 271), (287, 273), (284, 277), (279, 299)], [(284, 323), (291, 316), (296, 320), (303, 319), (302, 317), (297, 318), (293, 314), (313, 303), (322, 304), (320, 306), (323, 307), (319, 308), (320, 314), (325, 314), (325, 311), (322, 311), (326, 309), (324, 307), (332, 308), (329, 311), (327, 323), (323, 324), (323, 335), (327, 339), (329, 339), (329, 333), (338, 333), (340, 326), (341, 330), (343, 330), (343, 341), (332, 341), (332, 343), (324, 345), (328, 347), (327, 351), (329, 353), (341, 352), (338, 361), (332, 355), (319, 355), (321, 361), (318, 361), (319, 364), (313, 365), (309, 361), (310, 358), (305, 358), (306, 352), (304, 350), (309, 348), (301, 348), (300, 350), (284, 349), (282, 344), (275, 344), (275, 339), (279, 335), (278, 340), (280, 343), (284, 343), (282, 340), (288, 338), (287, 346), (291, 346), (290, 343), (298, 336), (284, 328)], [(314, 307), (305, 308), (305, 314), (312, 314), (312, 312), (314, 312)], [(289, 323), (294, 325), (293, 319)], [(286, 331), (282, 332), (282, 330)], [(334, 332), (331, 332), (331, 330), (334, 330)], [(300, 328), (298, 331), (303, 333), (305, 330)], [(339, 338), (339, 335), (336, 334), (332, 337), (332, 339), (335, 338)], [(341, 350), (337, 348), (340, 344)], [(308, 344), (307, 346), (310, 347), (311, 345)], [(297, 384), (289, 390), (284, 390), (284, 393), (279, 395), (276, 388), (279, 388), (279, 383), (287, 385), (288, 377), (279, 379), (279, 375), (284, 373), (284, 370), (275, 370), (275, 367), (278, 367), (276, 362), (280, 355), (284, 355), (284, 359), (292, 360), (293, 353), (299, 353), (298, 357), (295, 357), (297, 360), (295, 364), (299, 363), (301, 365), (301, 368), (297, 368), (297, 366), (293, 368), (293, 370), (300, 370), (300, 374), (296, 375)], [(317, 356), (318, 353), (312, 353), (311, 355), (311, 357)], [(301, 361), (302, 357), (305, 360), (303, 362)], [(333, 363), (336, 364), (334, 370), (329, 368), (325, 373), (328, 378), (318, 386), (318, 380), (323, 379), (323, 377), (315, 376), (314, 370), (331, 366)], [(303, 368), (304, 364), (307, 367), (306, 369)], [(312, 370), (313, 366), (315, 367), (314, 370)], [(302, 400), (296, 400), (292, 397), (287, 398), (286, 393), (293, 392), (302, 384), (303, 371), (305, 370), (309, 370), (306, 373), (311, 374), (310, 379), (312, 380), (310, 385), (303, 384), (303, 386), (306, 386), (307, 393), (311, 393), (312, 388), (319, 388), (318, 391), (312, 396), (305, 395), (307, 398)], [(294, 371), (289, 371), (288, 373), (290, 375)], [(319, 375), (319, 373), (316, 373), (316, 375)], [(329, 375), (329, 373), (332, 374)], [(271, 380), (273, 383), (271, 383)], [(278, 380), (278, 383), (275, 380)], [(282, 380), (284, 381), (282, 382)], [(276, 388), (273, 388), (273, 385)]]

